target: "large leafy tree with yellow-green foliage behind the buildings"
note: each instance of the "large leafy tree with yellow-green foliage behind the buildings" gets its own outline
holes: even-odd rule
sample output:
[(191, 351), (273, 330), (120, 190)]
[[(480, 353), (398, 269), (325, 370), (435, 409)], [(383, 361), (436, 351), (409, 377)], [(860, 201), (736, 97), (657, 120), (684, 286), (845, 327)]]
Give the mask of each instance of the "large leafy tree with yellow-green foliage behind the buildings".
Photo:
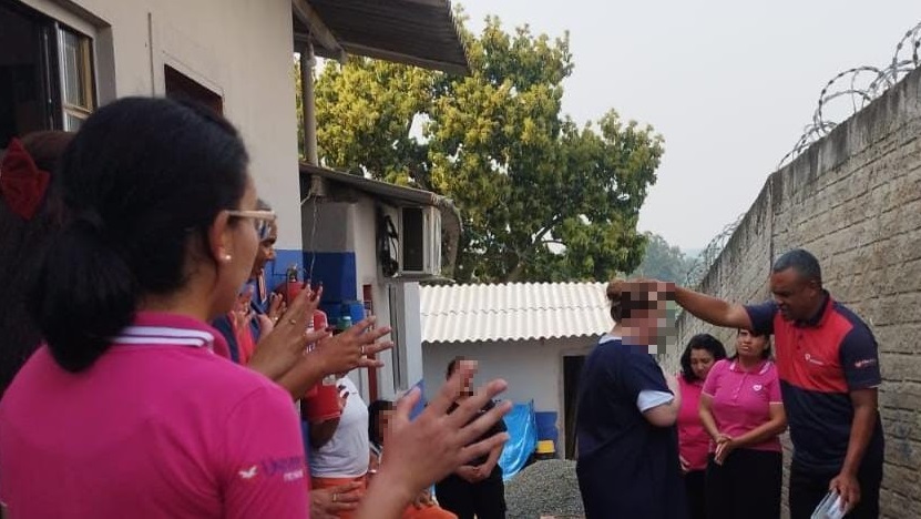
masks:
[[(561, 114), (569, 34), (461, 29), (472, 74), (350, 57), (317, 79), (326, 165), (448, 196), (463, 216), (461, 282), (607, 279), (639, 265), (639, 207), (663, 154), (613, 110)], [(416, 124), (413, 124), (416, 123)]]

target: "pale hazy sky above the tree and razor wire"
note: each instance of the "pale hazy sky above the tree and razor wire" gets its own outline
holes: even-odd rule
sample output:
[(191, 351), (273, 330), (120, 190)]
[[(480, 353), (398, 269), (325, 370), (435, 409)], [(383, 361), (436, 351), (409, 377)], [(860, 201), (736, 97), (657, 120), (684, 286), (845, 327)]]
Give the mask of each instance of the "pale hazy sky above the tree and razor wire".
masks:
[(614, 108), (665, 136), (639, 227), (683, 248), (705, 246), (748, 210), (828, 80), (887, 64), (921, 21), (919, 0), (459, 3), (477, 32), (487, 14), (506, 29), (570, 31), (564, 112), (585, 121)]

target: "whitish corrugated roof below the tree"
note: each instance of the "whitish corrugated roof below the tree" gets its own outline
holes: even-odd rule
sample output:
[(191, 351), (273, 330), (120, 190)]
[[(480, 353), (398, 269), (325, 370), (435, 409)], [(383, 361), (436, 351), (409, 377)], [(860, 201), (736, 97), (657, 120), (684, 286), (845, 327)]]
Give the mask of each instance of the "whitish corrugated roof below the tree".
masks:
[(422, 342), (601, 335), (612, 326), (604, 288), (604, 283), (422, 286)]

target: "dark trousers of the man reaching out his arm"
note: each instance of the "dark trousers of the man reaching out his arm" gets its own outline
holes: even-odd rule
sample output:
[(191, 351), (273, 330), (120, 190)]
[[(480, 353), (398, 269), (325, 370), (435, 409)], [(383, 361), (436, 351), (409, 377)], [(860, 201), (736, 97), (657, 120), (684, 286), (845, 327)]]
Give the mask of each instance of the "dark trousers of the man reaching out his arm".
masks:
[[(790, 465), (790, 519), (809, 519), (812, 511), (828, 493), (828, 485), (838, 472), (808, 470)], [(877, 519), (879, 517), (879, 488), (882, 484), (882, 461), (864, 462), (857, 472), (860, 484), (860, 502), (847, 519)]]

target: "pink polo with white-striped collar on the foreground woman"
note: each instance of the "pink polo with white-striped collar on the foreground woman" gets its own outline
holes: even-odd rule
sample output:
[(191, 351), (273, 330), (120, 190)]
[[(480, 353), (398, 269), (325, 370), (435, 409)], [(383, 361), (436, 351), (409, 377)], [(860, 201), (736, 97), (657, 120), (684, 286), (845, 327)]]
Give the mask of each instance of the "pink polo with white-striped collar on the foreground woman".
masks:
[(0, 403), (8, 517), (307, 518), (294, 404), (223, 340), (142, 313), (82, 373), (40, 348)]

